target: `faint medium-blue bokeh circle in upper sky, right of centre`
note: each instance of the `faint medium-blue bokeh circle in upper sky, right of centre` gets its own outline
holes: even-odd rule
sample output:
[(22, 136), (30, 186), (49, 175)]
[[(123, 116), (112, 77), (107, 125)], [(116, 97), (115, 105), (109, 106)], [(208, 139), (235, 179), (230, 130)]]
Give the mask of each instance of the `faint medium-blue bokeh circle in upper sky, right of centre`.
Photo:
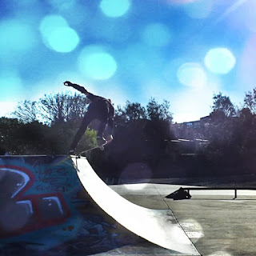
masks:
[(166, 46), (170, 42), (171, 34), (168, 26), (162, 23), (152, 23), (146, 26), (142, 38), (150, 46)]

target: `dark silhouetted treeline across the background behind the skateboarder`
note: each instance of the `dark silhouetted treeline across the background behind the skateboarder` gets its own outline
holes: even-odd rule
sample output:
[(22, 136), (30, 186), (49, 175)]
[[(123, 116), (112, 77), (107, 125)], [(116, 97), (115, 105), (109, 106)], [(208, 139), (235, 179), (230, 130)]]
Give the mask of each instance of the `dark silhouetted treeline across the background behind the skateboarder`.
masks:
[[(86, 111), (80, 94), (45, 95), (20, 102), (14, 118), (0, 118), (1, 154), (67, 154)], [(79, 150), (96, 145), (97, 121)], [(214, 94), (212, 112), (198, 122), (174, 124), (170, 102), (116, 107), (114, 141), (86, 156), (102, 178), (173, 178), (254, 174), (256, 89), (238, 108)]]

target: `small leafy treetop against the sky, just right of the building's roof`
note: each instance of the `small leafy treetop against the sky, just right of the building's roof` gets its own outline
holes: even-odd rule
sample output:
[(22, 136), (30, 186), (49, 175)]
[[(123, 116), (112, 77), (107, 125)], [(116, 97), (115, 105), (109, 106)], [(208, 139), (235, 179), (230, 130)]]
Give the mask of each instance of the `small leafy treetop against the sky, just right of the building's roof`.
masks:
[(230, 97), (223, 96), (222, 93), (218, 95), (214, 94), (214, 105), (211, 107), (213, 113), (215, 111), (222, 112), (226, 117), (233, 117), (236, 114), (233, 103), (230, 101)]

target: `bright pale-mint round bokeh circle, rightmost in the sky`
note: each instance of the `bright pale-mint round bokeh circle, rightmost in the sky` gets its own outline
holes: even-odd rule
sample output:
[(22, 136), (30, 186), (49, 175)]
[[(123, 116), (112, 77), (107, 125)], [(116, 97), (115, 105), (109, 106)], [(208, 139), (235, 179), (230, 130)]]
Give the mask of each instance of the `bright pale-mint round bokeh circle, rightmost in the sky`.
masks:
[(213, 73), (227, 74), (235, 65), (234, 55), (226, 48), (214, 48), (207, 52), (205, 65)]

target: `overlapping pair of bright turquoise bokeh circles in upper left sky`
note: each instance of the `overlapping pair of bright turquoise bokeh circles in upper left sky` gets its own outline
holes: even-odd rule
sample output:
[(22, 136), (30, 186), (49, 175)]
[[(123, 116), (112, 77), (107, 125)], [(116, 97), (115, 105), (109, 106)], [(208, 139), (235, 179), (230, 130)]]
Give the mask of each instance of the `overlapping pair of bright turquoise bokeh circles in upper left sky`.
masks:
[(59, 15), (43, 18), (39, 30), (45, 45), (57, 52), (68, 53), (74, 50), (80, 41), (77, 32)]

